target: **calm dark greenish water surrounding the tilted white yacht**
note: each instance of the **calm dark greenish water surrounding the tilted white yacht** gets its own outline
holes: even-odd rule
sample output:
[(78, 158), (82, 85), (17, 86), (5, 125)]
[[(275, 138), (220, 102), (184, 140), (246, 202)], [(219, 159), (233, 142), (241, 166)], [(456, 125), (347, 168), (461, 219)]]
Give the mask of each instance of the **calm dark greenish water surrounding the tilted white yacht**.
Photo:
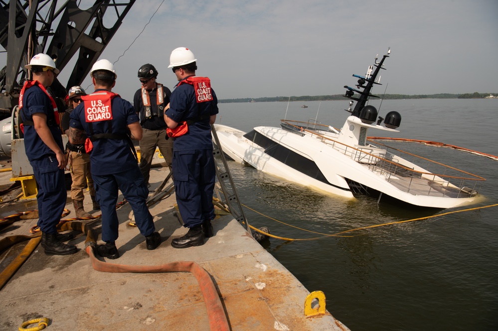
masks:
[[(220, 104), (217, 123), (245, 131), (279, 126), (280, 119), (316, 118), (341, 127), (347, 101)], [(372, 103), (377, 108), (380, 101)], [(286, 115), (287, 110), (287, 115)], [(384, 101), (379, 111), (401, 113), (391, 136), (440, 141), (498, 155), (498, 100)], [(370, 130), (368, 135), (385, 136)], [(388, 142), (487, 179), (477, 206), (498, 203), (498, 162), (450, 148)], [(405, 209), (361, 197), (324, 195), (233, 161), (241, 202), (278, 221), (317, 233), (443, 214), (450, 210)], [(472, 206), (476, 207), (476, 206)], [(270, 220), (248, 209), (251, 225), (275, 235), (318, 238), (270, 239), (265, 248), (310, 291), (321, 290), (327, 309), (352, 331), (498, 330), (498, 207), (424, 221), (380, 226), (328, 237)]]

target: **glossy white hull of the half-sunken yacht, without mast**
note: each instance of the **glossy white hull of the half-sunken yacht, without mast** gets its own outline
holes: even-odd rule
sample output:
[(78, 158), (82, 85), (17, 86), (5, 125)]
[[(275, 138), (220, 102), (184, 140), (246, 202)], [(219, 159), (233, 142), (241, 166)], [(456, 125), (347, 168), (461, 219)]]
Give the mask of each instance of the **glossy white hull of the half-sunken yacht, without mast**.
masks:
[[(345, 198), (354, 198), (348, 185), (348, 183), (353, 181), (361, 186), (376, 190), (381, 192), (381, 194), (414, 206), (453, 208), (473, 204), (478, 199), (476, 196), (470, 198), (450, 198), (421, 196), (404, 192), (395, 186), (396, 183), (394, 185), (391, 184), (393, 182), (392, 177), (390, 178), (391, 182), (388, 182), (385, 175), (372, 172), (367, 166), (358, 163), (353, 158), (344, 155), (309, 134), (301, 134), (300, 132), (292, 132), (268, 126), (254, 128), (260, 135), (278, 145), (278, 148), (281, 150), (278, 153), (288, 153), (288, 156), (284, 157), (287, 157), (287, 159), (293, 158), (298, 160), (297, 162), (303, 163), (303, 167), (301, 167), (300, 164), (292, 164), (290, 166), (279, 161), (277, 158), (282, 158), (282, 156), (274, 157), (269, 155), (268, 152), (265, 152), (264, 147), (253, 142), (249, 137), (244, 137), (246, 134), (244, 131), (220, 124), (215, 124), (214, 127), (223, 152), (233, 160), (249, 164), (257, 170), (318, 191)], [(267, 149), (271, 150), (272, 148), (268, 148), (267, 146)], [(288, 160), (286, 162), (289, 163)], [(312, 171), (312, 176), (304, 173), (306, 171), (309, 172), (309, 169), (315, 166), (321, 174), (316, 175), (315, 170)], [(424, 170), (420, 167), (418, 169)], [(428, 181), (424, 178), (417, 180), (424, 185)]]

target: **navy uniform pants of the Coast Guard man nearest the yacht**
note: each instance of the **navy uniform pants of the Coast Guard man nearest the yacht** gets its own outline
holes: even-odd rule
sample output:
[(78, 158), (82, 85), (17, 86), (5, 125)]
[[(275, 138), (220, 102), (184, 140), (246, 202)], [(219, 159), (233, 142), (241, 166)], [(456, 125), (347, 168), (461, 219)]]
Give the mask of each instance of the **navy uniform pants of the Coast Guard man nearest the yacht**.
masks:
[(216, 170), (212, 150), (173, 152), (173, 179), (183, 226), (191, 228), (214, 219)]

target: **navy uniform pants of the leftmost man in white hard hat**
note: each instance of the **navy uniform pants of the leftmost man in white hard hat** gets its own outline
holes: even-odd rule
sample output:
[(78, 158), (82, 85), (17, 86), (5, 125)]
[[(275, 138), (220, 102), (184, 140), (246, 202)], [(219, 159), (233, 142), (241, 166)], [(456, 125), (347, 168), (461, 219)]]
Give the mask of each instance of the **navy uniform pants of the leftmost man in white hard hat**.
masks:
[(38, 226), (45, 233), (57, 233), (67, 192), (64, 182), (64, 170), (59, 169), (55, 154), (44, 155), (41, 159), (29, 161), (33, 167), (34, 179), (38, 186)]

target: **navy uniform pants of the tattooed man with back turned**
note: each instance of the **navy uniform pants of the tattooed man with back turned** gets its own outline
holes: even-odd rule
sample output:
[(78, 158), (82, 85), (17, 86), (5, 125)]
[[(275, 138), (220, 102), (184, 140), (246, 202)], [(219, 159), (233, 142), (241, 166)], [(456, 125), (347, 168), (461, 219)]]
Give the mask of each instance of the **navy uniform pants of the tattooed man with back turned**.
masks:
[(118, 238), (119, 220), (116, 213), (118, 190), (132, 207), (135, 223), (142, 235), (151, 235), (155, 231), (152, 215), (146, 200), (149, 190), (144, 183), (138, 164), (129, 170), (117, 174), (92, 174), (95, 184), (95, 197), (102, 211), (102, 241), (114, 242)]

